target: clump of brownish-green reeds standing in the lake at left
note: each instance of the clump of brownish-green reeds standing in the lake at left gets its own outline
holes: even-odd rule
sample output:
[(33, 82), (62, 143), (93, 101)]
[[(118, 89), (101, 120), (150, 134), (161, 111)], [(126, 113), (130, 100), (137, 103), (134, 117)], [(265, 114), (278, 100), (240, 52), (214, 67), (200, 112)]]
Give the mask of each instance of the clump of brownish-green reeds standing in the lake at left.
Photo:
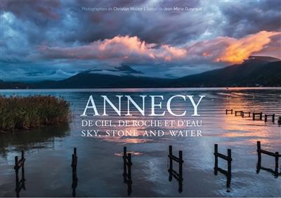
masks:
[(68, 122), (70, 104), (62, 97), (0, 96), (0, 131), (33, 129)]

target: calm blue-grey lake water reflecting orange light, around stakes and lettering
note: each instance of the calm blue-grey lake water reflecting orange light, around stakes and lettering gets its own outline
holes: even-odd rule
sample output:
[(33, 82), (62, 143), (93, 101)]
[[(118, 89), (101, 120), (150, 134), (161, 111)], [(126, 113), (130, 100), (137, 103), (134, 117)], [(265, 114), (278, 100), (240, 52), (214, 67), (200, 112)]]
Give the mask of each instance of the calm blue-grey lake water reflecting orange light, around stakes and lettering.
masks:
[[(251, 111), (281, 114), (281, 88), (276, 89), (107, 89), (107, 90), (0, 90), (1, 95), (32, 94), (63, 96), (71, 103), (72, 122), (69, 125), (44, 127), (25, 132), (0, 134), (0, 196), (15, 197), (14, 157), (20, 150), (26, 153), (25, 187), (20, 197), (72, 197), (71, 158), (77, 147), (78, 185), (77, 197), (126, 197), (127, 185), (123, 183), (123, 147), (132, 152), (131, 197), (280, 197), (281, 176), (261, 170), (256, 173), (256, 141), (261, 141), (265, 150), (281, 153), (281, 127), (264, 121), (253, 121), (226, 115), (226, 108), (237, 111)], [(86, 102), (93, 95), (98, 110), (103, 109), (100, 95), (107, 95), (117, 104), (115, 95), (130, 95), (141, 105), (139, 95), (163, 95), (163, 105), (169, 97), (182, 94), (199, 95), (202, 99), (195, 118), (190, 101), (176, 99), (172, 107), (176, 113), (187, 109), (184, 117), (166, 114), (164, 117), (141, 116), (132, 108), (133, 116), (119, 117), (108, 109), (107, 117), (81, 118)], [(115, 99), (115, 100), (114, 100)], [(150, 101), (148, 100), (148, 104)], [(164, 105), (165, 107), (165, 105)], [(150, 112), (151, 106), (145, 107)], [(122, 103), (122, 109), (126, 104)], [(101, 112), (103, 113), (103, 112)], [(126, 113), (126, 112), (125, 112)], [(90, 113), (89, 113), (90, 115)], [(100, 136), (82, 137), (81, 120), (202, 120), (202, 136), (172, 137), (169, 129), (191, 129), (192, 127), (119, 127), (124, 130), (162, 129), (164, 136)], [(277, 118), (276, 118), (277, 120)], [(94, 128), (92, 128), (94, 129)], [(230, 188), (226, 187), (226, 176), (214, 175), (214, 143), (220, 153), (232, 150), (232, 178)], [(183, 192), (178, 192), (178, 182), (169, 181), (168, 147), (173, 146), (175, 155), (183, 150)], [(219, 167), (227, 164), (219, 160)], [(281, 159), (279, 162), (281, 169)], [(176, 163), (174, 163), (176, 164)], [(261, 165), (275, 169), (275, 158), (262, 156)], [(174, 167), (177, 169), (177, 166)]]

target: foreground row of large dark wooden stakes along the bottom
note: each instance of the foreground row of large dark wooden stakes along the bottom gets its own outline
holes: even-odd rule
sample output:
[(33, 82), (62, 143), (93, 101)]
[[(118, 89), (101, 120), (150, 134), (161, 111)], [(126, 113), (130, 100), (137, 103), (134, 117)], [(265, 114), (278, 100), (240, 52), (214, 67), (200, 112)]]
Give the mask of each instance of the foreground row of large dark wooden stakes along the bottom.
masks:
[[(261, 149), (261, 141), (257, 141), (257, 153), (258, 153), (258, 164), (256, 166), (256, 172), (259, 173), (261, 169), (269, 171), (270, 173), (274, 174), (276, 177), (280, 176), (281, 173), (278, 172), (278, 160), (281, 155), (278, 152), (272, 153), (268, 150)], [(261, 167), (261, 154), (269, 155), (275, 157), (275, 170), (267, 169), (264, 167)], [(172, 146), (169, 146), (169, 181), (172, 181), (172, 178), (175, 178), (176, 181), (178, 181), (178, 192), (183, 191), (183, 151), (178, 151), (178, 157), (173, 154)], [(224, 155), (222, 153), (218, 152), (218, 144), (214, 145), (214, 157), (215, 157), (215, 163), (214, 163), (214, 174), (217, 175), (218, 172), (221, 174), (224, 174), (227, 176), (226, 186), (230, 188), (230, 180), (231, 180), (231, 163), (233, 162), (233, 159), (231, 157), (231, 149), (228, 149), (227, 155)], [(227, 169), (221, 169), (218, 166), (218, 159), (226, 160), (228, 163)], [(124, 146), (123, 150), (123, 162), (124, 162), (124, 171), (123, 171), (123, 177), (124, 177), (124, 183), (127, 184), (127, 193), (128, 195), (131, 195), (132, 191), (132, 176), (131, 176), (131, 167), (133, 165), (132, 163), (132, 157), (131, 153), (127, 152), (126, 146)], [(178, 170), (174, 169), (173, 162), (178, 163)], [(78, 178), (77, 178), (77, 164), (78, 164), (78, 157), (77, 157), (77, 148), (74, 148), (73, 154), (72, 154), (72, 197), (76, 197), (76, 188), (78, 184)], [(17, 197), (20, 197), (20, 190), (26, 190), (25, 188), (25, 153), (22, 150), (21, 158), (18, 160), (18, 156), (15, 156), (15, 182), (16, 182), (16, 195)], [(21, 169), (22, 178), (19, 179), (19, 171)]]

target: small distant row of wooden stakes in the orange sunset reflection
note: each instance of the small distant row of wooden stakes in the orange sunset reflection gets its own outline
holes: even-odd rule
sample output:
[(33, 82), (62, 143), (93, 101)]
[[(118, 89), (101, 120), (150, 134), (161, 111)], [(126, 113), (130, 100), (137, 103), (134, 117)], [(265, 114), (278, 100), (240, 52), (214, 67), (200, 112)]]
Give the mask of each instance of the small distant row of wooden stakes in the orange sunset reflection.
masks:
[[(250, 111), (233, 111), (233, 109), (226, 109), (226, 115), (228, 113), (235, 114), (235, 116), (242, 116), (242, 118), (250, 118), (252, 115), (253, 120), (263, 120), (263, 113), (262, 112), (253, 112)], [(264, 114), (264, 122), (268, 122), (268, 117), (271, 117), (273, 123), (275, 123), (275, 113), (273, 114)], [(278, 125), (281, 125), (281, 115), (277, 119)]]

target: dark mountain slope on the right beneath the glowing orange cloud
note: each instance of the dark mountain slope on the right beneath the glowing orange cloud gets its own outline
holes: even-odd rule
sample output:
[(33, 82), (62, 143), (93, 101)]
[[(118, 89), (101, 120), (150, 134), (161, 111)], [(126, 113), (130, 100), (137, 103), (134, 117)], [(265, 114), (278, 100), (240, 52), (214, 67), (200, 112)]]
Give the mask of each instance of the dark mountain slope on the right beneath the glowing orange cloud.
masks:
[(280, 59), (270, 62), (268, 57), (261, 58), (252, 57), (242, 64), (177, 78), (173, 83), (177, 87), (281, 87)]

